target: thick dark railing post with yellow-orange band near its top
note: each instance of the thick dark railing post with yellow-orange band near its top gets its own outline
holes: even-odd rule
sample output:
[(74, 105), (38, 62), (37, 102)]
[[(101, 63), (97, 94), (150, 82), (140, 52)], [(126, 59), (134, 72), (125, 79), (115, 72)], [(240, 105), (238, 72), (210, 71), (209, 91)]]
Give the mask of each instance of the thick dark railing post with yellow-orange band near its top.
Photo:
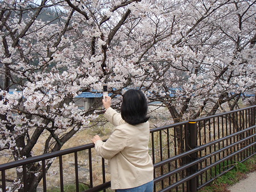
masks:
[[(195, 120), (189, 120), (188, 122), (188, 129), (187, 129), (187, 142), (186, 142), (186, 149), (187, 151), (194, 149), (197, 147), (197, 126)], [(197, 159), (197, 152), (191, 153), (187, 159), (187, 164), (189, 162), (193, 162)], [(193, 173), (197, 172), (197, 165), (193, 165), (187, 169), (187, 176), (192, 175)], [(188, 181), (187, 186), (188, 192), (195, 192), (197, 191), (197, 177), (193, 177), (191, 180)]]

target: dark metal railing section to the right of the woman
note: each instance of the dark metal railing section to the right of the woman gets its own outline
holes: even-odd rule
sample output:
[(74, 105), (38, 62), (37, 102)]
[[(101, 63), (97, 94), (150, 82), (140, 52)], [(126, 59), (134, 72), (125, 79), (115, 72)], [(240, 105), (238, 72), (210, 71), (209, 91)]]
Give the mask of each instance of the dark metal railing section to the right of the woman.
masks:
[(251, 106), (151, 130), (162, 141), (157, 152), (152, 150), (153, 161), (159, 159), (155, 191), (197, 191), (255, 155), (255, 110)]

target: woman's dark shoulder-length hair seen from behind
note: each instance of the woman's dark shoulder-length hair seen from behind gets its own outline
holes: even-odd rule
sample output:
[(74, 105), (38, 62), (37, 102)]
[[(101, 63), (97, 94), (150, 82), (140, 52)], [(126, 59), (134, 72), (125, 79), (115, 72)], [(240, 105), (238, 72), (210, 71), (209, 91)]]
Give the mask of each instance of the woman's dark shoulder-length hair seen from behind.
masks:
[(142, 91), (130, 89), (123, 94), (121, 116), (132, 125), (147, 122), (147, 99)]

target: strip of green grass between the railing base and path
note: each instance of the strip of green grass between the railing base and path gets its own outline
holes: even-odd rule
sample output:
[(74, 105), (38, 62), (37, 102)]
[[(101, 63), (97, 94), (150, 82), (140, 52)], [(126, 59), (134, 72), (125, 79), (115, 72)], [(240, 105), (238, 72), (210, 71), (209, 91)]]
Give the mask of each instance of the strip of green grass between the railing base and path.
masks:
[(243, 178), (246, 178), (246, 173), (253, 172), (255, 170), (256, 156), (253, 156), (243, 163), (237, 162), (234, 169), (217, 178), (217, 180), (214, 181), (212, 185), (206, 186), (199, 191), (229, 191), (229, 186), (234, 185)]

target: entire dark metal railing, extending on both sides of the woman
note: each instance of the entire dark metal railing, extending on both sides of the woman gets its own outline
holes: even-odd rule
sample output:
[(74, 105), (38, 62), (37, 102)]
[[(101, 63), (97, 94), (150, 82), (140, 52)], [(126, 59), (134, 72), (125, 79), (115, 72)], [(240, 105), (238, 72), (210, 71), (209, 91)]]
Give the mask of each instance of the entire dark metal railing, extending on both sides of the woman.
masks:
[[(234, 168), (237, 162), (243, 162), (255, 155), (255, 110), (256, 106), (251, 106), (151, 129), (149, 147), (154, 163), (154, 190), (197, 191)], [(36, 163), (42, 164), (37, 172), (42, 176), (42, 190), (47, 191), (47, 172), (53, 159), (59, 168), (59, 190), (64, 191), (66, 176), (63, 159), (66, 155), (73, 155), (75, 162), (73, 177), (76, 191), (79, 191), (80, 182), (88, 185), (89, 189), (86, 191), (110, 191), (106, 160), (100, 158), (98, 161), (92, 148), (94, 144), (86, 144), (2, 164), (2, 191), (6, 191), (6, 187), (11, 185), (6, 172), (12, 168), (22, 169), (20, 189), (31, 191), (29, 177), (31, 166)], [(79, 176), (80, 161), (88, 161), (82, 165), (83, 169), (88, 170), (88, 177)]]

